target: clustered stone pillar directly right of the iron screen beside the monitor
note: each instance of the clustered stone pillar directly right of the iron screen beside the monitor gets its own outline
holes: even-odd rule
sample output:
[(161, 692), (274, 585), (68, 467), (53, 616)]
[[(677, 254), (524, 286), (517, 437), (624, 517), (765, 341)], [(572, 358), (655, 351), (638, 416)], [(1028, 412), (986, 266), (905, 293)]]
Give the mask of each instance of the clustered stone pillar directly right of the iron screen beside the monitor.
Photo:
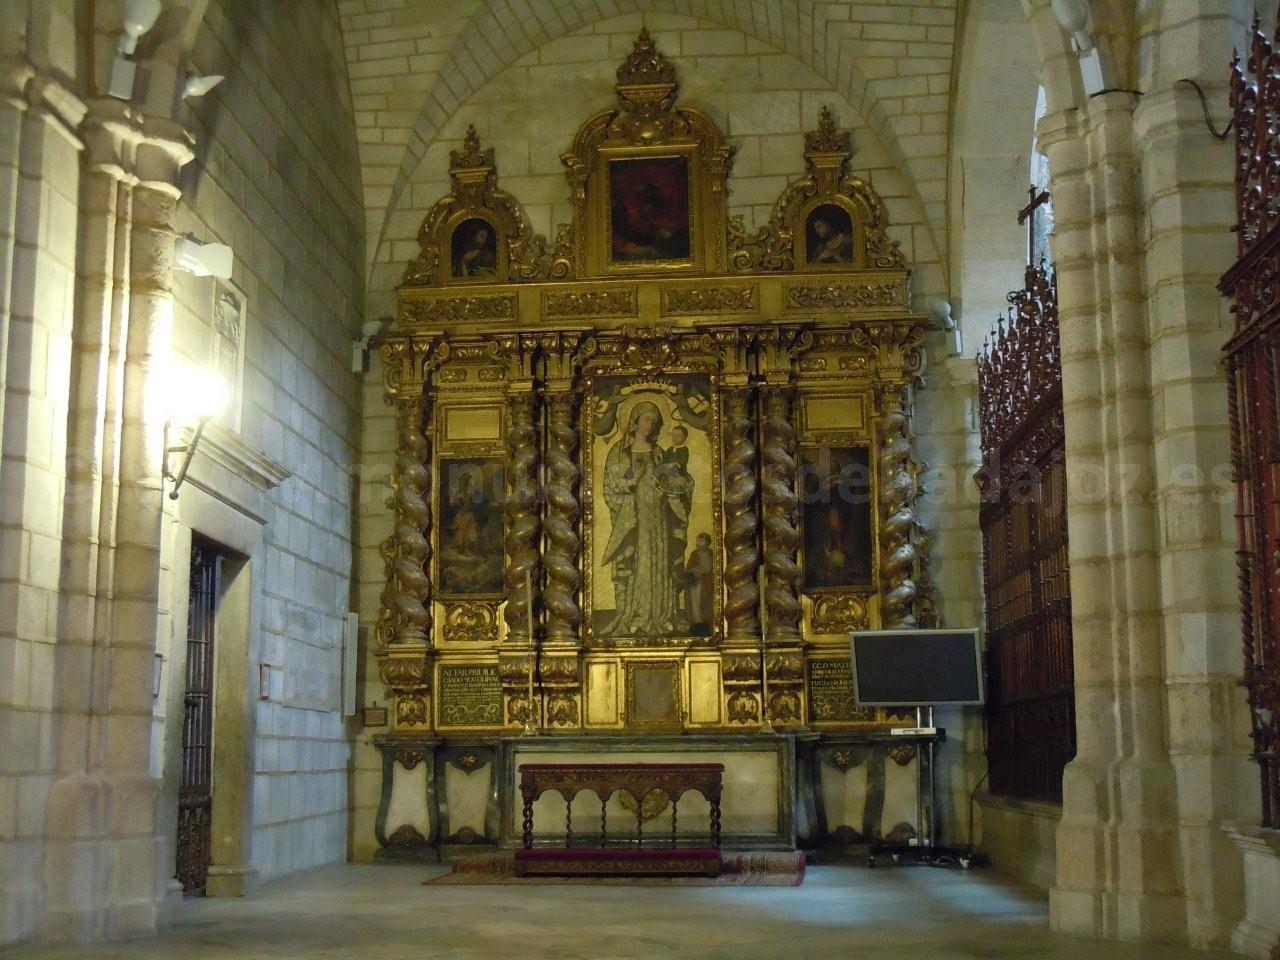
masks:
[(1135, 102), (1103, 93), (1039, 129), (1056, 218), (1078, 737), (1050, 905), (1064, 932), (1180, 940)]

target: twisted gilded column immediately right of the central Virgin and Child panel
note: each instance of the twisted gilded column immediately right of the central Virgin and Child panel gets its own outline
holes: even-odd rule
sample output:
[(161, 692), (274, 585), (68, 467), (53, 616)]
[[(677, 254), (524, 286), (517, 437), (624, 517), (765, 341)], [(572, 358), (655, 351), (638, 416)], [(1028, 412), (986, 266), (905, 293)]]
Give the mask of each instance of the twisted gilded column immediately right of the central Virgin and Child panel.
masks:
[(751, 390), (737, 389), (726, 397), (728, 433), (724, 444), (724, 621), (728, 639), (760, 635), (756, 612), (759, 586), (755, 571), (760, 563), (756, 545), (759, 521), (755, 516), (755, 421), (751, 417)]

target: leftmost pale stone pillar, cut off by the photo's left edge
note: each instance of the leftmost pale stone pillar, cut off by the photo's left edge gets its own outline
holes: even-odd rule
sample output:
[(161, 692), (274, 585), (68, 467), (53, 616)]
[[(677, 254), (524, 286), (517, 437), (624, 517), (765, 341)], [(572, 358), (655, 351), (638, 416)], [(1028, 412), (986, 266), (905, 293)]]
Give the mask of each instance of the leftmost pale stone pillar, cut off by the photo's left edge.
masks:
[(46, 899), (82, 115), (50, 76), (0, 59), (0, 795), (19, 799), (0, 805), (0, 943), (36, 934)]

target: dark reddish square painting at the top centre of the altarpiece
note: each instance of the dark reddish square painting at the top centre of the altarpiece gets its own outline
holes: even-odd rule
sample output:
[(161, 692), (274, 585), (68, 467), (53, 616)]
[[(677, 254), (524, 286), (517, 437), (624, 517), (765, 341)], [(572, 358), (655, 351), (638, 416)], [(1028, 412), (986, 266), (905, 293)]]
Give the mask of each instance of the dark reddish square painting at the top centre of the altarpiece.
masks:
[(689, 260), (689, 160), (609, 163), (609, 252), (616, 264)]

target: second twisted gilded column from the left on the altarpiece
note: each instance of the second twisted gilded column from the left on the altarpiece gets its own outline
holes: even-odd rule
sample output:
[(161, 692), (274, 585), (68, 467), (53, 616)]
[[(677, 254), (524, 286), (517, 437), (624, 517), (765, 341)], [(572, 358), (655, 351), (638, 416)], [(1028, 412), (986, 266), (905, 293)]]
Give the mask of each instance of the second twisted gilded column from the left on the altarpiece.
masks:
[(538, 429), (532, 390), (507, 398), (507, 641), (529, 641), (530, 616), (526, 582), (532, 594), (540, 588), (538, 547)]

